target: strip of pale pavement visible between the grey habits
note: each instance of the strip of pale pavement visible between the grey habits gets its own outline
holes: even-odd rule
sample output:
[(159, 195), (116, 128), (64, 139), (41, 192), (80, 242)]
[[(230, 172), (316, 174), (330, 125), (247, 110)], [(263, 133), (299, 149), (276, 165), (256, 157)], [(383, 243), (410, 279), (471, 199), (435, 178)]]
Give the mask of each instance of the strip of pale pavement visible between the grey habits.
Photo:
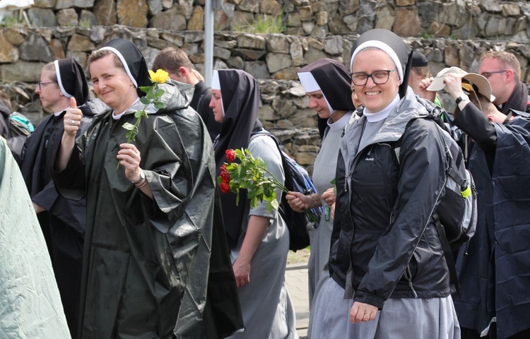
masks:
[(296, 311), (296, 330), (300, 339), (307, 338), (309, 323), (309, 297), (307, 287), (307, 263), (288, 265), (285, 283)]

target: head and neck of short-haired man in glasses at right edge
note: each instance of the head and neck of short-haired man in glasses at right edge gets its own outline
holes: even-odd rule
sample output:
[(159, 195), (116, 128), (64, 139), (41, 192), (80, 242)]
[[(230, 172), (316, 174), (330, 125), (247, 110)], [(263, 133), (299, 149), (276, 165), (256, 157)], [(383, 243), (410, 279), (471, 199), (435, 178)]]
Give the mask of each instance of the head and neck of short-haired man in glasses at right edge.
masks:
[(514, 109), (530, 113), (528, 88), (521, 81), (521, 66), (514, 54), (485, 52), (478, 73), (490, 81), (493, 103), (500, 112), (510, 114), (510, 109)]

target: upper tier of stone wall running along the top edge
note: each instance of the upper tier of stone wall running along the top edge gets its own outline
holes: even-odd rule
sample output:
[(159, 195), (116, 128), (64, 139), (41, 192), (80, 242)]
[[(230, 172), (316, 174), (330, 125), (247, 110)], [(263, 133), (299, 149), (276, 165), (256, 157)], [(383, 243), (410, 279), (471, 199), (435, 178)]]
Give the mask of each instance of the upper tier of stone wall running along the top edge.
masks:
[[(214, 1), (216, 2), (216, 1)], [(203, 30), (204, 0), (35, 0), (33, 27), (127, 25)], [(224, 0), (216, 30), (233, 31), (282, 17), (285, 34), (324, 37), (387, 28), (402, 36), (529, 39), (528, 1), (496, 0)]]

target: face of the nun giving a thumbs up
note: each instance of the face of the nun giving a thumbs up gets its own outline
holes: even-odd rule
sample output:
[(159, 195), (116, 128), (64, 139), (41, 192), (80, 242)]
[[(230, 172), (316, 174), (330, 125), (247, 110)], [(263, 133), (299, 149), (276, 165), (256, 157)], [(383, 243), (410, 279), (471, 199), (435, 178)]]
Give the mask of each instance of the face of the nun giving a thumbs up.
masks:
[(125, 70), (116, 66), (112, 54), (93, 61), (90, 76), (95, 94), (117, 114), (125, 112), (138, 98), (134, 84)]

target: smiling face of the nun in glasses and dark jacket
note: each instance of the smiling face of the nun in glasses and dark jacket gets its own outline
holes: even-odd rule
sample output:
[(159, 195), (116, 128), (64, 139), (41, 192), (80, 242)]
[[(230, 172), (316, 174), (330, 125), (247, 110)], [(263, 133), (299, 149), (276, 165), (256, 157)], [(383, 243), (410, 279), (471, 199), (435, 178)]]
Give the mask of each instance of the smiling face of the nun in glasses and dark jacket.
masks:
[(371, 112), (379, 112), (387, 107), (399, 92), (399, 75), (395, 71), (396, 65), (389, 55), (381, 49), (367, 49), (357, 54), (353, 60), (351, 71), (372, 74), (375, 71), (394, 70), (389, 73), (389, 79), (382, 85), (374, 83), (368, 78), (365, 85), (353, 84), (360, 102)]

